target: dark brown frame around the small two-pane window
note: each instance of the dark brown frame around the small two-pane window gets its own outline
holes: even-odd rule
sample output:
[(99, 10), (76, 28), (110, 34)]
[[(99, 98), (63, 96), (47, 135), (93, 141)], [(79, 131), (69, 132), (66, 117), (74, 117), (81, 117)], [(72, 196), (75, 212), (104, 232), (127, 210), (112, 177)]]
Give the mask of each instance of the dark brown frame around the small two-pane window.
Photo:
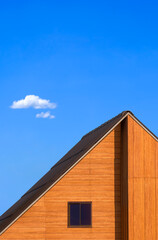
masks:
[[(91, 224), (90, 225), (70, 225), (70, 205), (71, 204), (90, 204), (90, 207), (91, 207)], [(68, 223), (67, 223), (67, 226), (68, 228), (92, 228), (92, 202), (68, 202), (67, 204), (67, 209), (68, 209)], [(81, 209), (81, 208), (80, 208)], [(81, 215), (80, 215), (80, 222), (81, 222)]]

